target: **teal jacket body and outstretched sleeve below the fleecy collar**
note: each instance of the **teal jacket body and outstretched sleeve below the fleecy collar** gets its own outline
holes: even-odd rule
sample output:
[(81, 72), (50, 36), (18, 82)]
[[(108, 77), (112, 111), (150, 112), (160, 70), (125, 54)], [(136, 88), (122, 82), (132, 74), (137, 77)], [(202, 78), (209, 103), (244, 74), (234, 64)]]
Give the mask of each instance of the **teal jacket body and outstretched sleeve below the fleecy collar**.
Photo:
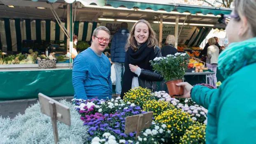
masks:
[(207, 144), (256, 144), (256, 63), (232, 74), (218, 89), (195, 86), (194, 102), (208, 109)]

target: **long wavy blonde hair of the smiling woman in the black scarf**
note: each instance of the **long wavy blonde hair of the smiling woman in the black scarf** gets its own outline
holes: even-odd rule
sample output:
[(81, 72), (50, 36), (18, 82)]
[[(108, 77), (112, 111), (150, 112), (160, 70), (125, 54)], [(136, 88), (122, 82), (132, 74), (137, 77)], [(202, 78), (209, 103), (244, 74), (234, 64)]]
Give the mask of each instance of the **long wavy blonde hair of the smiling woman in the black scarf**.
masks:
[(138, 45), (137, 45), (137, 41), (134, 37), (134, 31), (135, 31), (135, 26), (138, 24), (138, 23), (145, 23), (148, 28), (149, 28), (149, 37), (147, 39), (147, 41), (149, 42), (148, 43), (148, 47), (152, 47), (154, 46), (154, 48), (156, 46), (158, 46), (158, 40), (156, 39), (156, 33), (154, 32), (154, 30), (151, 28), (151, 25), (148, 21), (142, 19), (140, 21), (137, 21), (134, 25), (133, 25), (133, 28), (130, 30), (130, 36), (128, 38), (128, 42), (126, 43), (126, 51), (131, 48), (133, 49), (133, 51), (137, 51), (138, 49)]

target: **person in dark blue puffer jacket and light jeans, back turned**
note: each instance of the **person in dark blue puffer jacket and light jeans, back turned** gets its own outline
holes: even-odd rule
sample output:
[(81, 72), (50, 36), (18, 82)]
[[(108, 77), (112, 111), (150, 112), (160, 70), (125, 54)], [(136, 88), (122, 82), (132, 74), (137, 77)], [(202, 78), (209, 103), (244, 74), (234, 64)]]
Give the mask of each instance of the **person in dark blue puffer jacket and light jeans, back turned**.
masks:
[(111, 43), (111, 61), (114, 63), (116, 70), (116, 96), (120, 96), (121, 87), (121, 74), (124, 73), (124, 61), (126, 57), (125, 45), (129, 37), (129, 30), (127, 23), (121, 23), (121, 28), (114, 34)]

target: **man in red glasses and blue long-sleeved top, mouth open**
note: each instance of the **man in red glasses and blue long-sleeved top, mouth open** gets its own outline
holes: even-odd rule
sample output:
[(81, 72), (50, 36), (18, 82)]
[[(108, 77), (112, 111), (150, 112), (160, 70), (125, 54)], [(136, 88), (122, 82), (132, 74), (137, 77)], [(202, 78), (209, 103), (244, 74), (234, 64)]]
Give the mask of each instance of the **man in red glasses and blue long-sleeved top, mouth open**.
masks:
[(110, 32), (105, 26), (96, 28), (93, 31), (91, 47), (74, 58), (74, 98), (112, 98), (111, 64), (102, 53), (110, 41), (109, 38)]

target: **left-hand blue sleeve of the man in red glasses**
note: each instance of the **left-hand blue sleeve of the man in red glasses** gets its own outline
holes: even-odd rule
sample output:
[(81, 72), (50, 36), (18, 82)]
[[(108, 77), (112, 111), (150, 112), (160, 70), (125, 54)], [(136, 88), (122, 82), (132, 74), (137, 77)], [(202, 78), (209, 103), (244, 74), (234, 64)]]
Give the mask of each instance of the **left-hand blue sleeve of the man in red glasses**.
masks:
[(77, 98), (87, 100), (86, 92), (84, 89), (84, 81), (86, 80), (88, 73), (88, 64), (86, 59), (77, 55), (74, 59), (73, 70), (72, 70), (72, 84), (74, 87), (74, 92)]

